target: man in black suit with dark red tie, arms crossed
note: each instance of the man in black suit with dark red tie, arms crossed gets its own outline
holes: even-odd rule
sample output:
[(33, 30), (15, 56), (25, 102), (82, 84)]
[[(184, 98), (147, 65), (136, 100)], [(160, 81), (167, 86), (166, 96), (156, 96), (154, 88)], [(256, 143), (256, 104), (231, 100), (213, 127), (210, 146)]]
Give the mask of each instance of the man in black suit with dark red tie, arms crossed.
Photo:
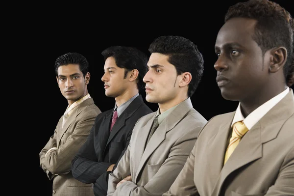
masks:
[(147, 56), (136, 48), (122, 46), (109, 47), (102, 55), (105, 73), (101, 80), (106, 96), (115, 98), (115, 107), (96, 117), (90, 135), (72, 161), (73, 177), (94, 183), (96, 196), (107, 195), (108, 174), (123, 156), (137, 120), (153, 112), (139, 94), (145, 87)]

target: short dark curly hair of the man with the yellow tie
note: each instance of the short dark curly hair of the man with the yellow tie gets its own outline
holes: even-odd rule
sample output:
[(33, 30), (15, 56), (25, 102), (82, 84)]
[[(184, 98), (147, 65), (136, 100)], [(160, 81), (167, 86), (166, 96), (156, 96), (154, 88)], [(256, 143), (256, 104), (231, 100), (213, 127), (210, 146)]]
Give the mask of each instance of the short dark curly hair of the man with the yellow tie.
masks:
[(276, 47), (283, 46), (287, 49), (284, 75), (288, 86), (294, 84), (294, 20), (291, 14), (270, 0), (248, 0), (229, 7), (224, 22), (237, 17), (257, 21), (253, 40), (262, 49), (263, 54)]

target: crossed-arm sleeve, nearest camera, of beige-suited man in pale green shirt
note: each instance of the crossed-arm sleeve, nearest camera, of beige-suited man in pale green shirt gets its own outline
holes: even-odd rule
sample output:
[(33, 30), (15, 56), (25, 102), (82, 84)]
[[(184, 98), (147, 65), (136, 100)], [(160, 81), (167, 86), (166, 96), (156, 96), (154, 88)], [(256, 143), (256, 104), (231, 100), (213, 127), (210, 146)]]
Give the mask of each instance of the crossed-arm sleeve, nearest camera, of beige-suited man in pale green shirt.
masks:
[[(202, 126), (196, 127), (197, 131), (195, 132), (199, 132), (201, 128)], [(127, 181), (115, 190), (113, 196), (161, 196), (167, 192), (184, 167), (195, 145), (196, 138), (197, 136), (189, 132), (177, 140), (172, 146), (168, 158), (145, 186), (137, 186), (134, 182)], [(120, 179), (116, 178), (114, 182), (118, 183)]]

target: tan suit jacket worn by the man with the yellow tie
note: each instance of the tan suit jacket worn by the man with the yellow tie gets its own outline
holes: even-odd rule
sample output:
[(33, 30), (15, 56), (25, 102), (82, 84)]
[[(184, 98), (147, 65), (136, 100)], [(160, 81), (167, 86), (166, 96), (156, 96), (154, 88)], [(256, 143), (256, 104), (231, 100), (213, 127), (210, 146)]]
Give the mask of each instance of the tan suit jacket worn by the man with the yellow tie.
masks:
[(223, 166), (234, 114), (206, 124), (164, 196), (294, 196), (293, 90), (245, 134)]

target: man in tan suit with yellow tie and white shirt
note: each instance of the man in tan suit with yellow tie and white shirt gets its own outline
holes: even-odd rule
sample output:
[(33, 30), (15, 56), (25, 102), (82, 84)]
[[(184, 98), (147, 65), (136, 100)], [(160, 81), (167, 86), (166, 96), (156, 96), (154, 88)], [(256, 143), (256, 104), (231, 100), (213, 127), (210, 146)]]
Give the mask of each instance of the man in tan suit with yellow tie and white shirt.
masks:
[(209, 120), (164, 196), (294, 196), (293, 28), (269, 0), (229, 8), (214, 66), (239, 106)]

